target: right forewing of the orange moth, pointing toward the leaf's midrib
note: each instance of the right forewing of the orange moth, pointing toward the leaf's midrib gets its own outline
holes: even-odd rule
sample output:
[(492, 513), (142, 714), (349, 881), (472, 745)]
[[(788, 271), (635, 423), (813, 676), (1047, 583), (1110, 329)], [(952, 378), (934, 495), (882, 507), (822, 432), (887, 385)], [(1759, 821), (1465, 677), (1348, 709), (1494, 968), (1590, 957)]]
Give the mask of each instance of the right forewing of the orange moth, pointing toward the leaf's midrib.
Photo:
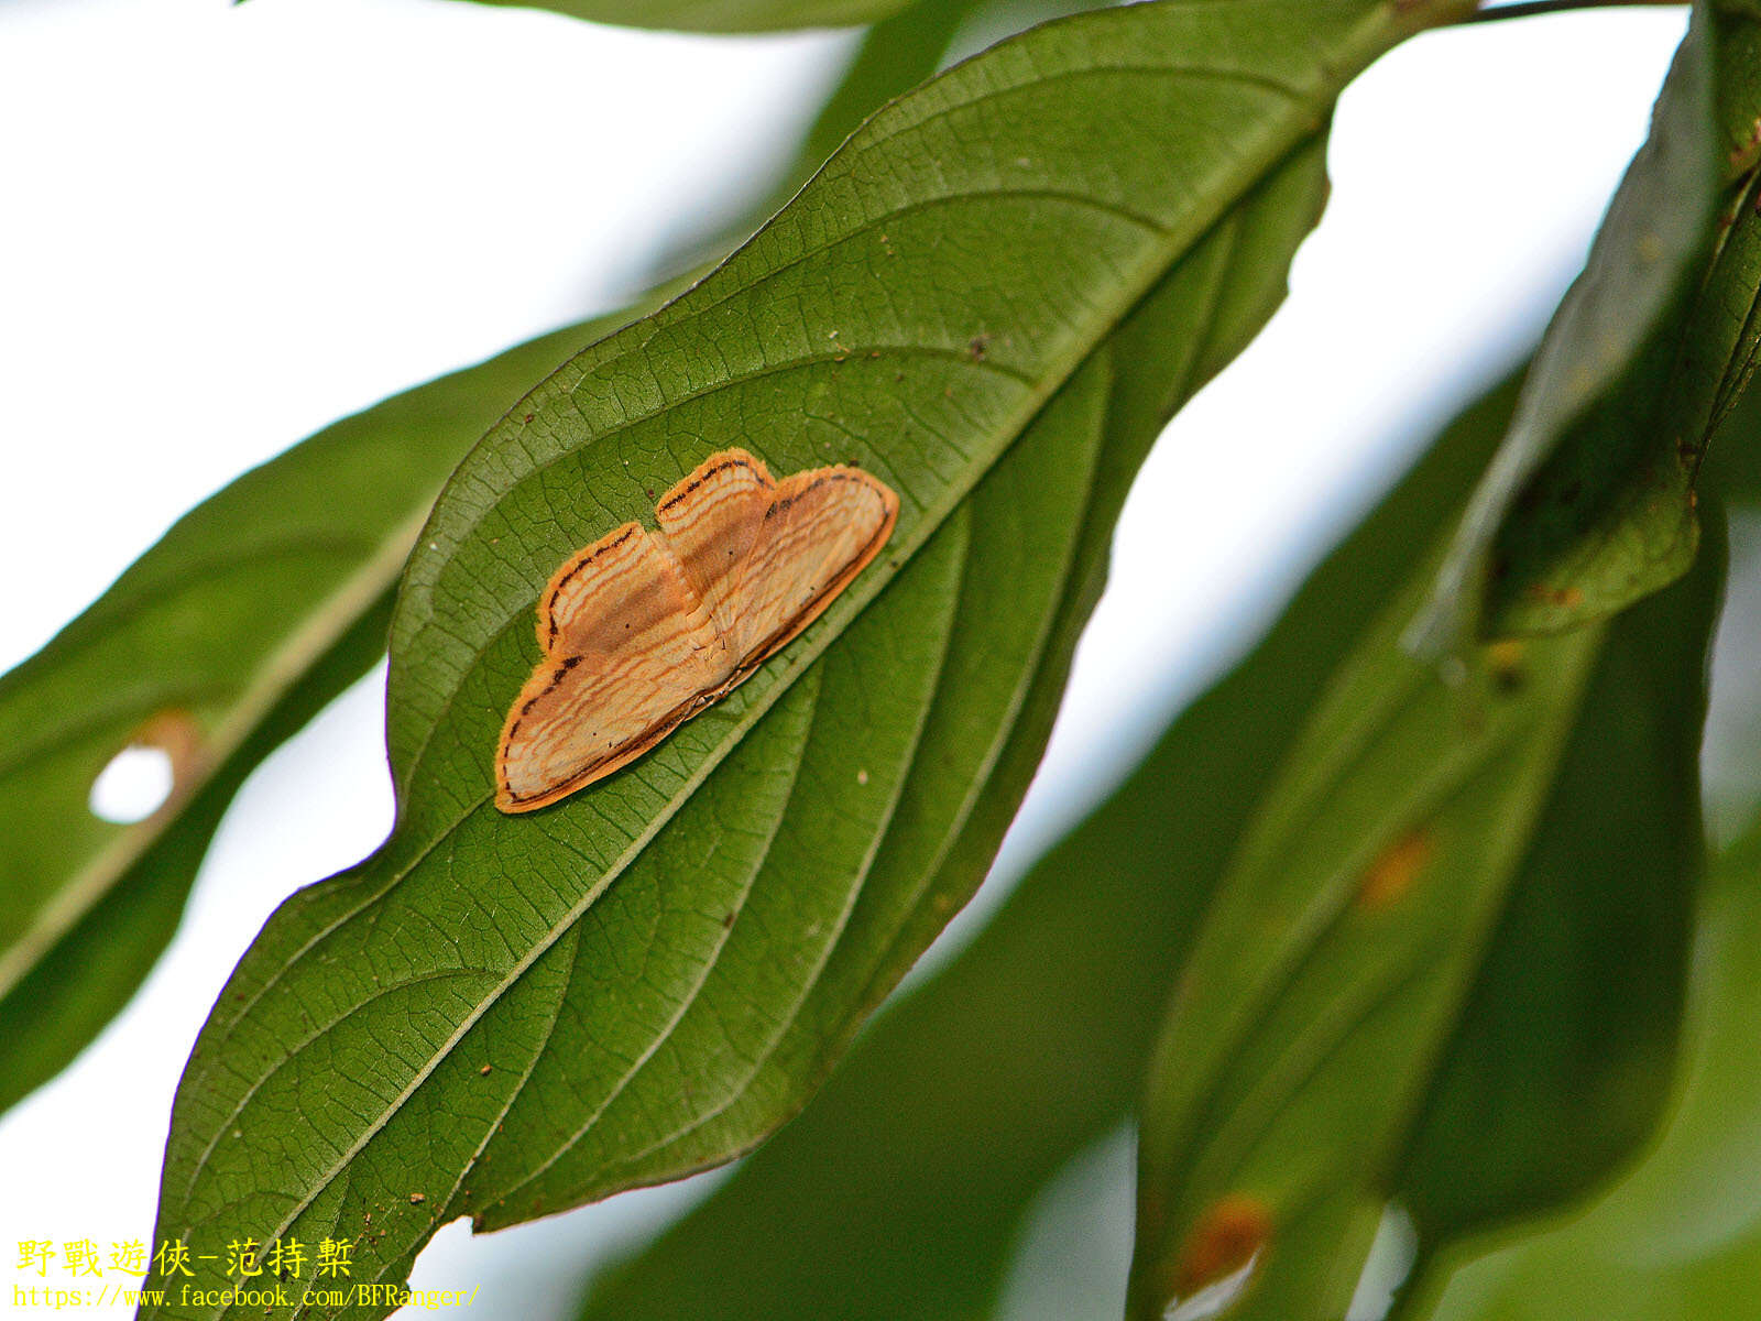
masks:
[(844, 465), (777, 484), (731, 594), (727, 645), (745, 671), (789, 643), (880, 553), (898, 497)]

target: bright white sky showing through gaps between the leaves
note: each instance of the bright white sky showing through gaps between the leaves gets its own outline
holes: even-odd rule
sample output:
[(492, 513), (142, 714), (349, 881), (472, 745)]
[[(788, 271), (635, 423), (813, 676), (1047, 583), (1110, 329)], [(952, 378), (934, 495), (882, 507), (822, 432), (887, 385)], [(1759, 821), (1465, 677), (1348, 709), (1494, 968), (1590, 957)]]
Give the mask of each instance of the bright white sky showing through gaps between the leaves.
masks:
[[(1289, 305), (1132, 495), (1011, 861), (1537, 333), (1680, 30), (1676, 11), (1613, 11), (1440, 33), (1347, 93)], [(847, 44), (442, 0), (0, 0), (0, 668), (245, 467), (613, 303), (669, 217), (764, 183)], [(18, 1238), (150, 1235), (171, 1094), (215, 992), (284, 895), (389, 823), (379, 682), (252, 777), (141, 995), (0, 1118), (0, 1312), (26, 1282)], [(486, 1317), (516, 1296), (560, 1316), (595, 1254), (692, 1192), (483, 1240), (453, 1226), (417, 1284), (483, 1284)], [(528, 1309), (532, 1289), (549, 1302)]]

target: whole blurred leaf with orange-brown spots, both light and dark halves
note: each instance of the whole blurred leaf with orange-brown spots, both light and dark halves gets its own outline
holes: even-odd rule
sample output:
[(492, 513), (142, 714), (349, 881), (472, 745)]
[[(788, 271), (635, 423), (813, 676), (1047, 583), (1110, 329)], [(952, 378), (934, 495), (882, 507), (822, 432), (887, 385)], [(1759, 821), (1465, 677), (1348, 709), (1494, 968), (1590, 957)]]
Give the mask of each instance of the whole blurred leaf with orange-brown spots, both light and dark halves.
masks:
[(1645, 1134), (1698, 875), (1715, 569), (1606, 639), (1481, 648), (1453, 683), (1398, 646), (1404, 601), (1340, 668), (1180, 974), (1134, 1316), (1249, 1259), (1231, 1316), (1340, 1316), (1389, 1196), (1423, 1258)]

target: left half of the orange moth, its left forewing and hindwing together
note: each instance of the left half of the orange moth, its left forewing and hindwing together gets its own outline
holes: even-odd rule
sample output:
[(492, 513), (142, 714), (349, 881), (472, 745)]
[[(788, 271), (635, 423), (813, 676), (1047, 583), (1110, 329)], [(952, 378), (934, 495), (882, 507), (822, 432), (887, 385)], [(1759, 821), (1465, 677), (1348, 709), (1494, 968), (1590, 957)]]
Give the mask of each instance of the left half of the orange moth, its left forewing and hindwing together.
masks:
[(639, 757), (731, 671), (678, 560), (630, 523), (569, 558), (539, 602), (546, 657), (497, 750), (497, 805), (528, 812)]

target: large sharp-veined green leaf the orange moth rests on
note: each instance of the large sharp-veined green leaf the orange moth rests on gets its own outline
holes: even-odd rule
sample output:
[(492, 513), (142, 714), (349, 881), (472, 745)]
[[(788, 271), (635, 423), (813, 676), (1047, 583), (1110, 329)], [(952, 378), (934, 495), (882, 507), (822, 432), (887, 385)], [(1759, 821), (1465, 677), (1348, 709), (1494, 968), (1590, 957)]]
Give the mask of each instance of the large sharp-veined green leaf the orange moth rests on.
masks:
[[(1136, 465), (1102, 446), (1134, 366), (1109, 336), (1197, 278), (1256, 190), (1307, 225), (1344, 79), (1460, 9), (1152, 4), (1004, 42), (516, 407), (400, 595), (393, 838), (241, 962), (180, 1087), (160, 1236), (343, 1235), (357, 1279), (400, 1279), (454, 1215), (674, 1178), (798, 1110), (977, 882), (1037, 756), (1109, 521), (1090, 509)], [(1275, 284), (1224, 285), (1206, 356)], [(497, 814), (544, 579), (731, 444), (877, 472), (903, 504), (888, 553), (652, 756)]]

